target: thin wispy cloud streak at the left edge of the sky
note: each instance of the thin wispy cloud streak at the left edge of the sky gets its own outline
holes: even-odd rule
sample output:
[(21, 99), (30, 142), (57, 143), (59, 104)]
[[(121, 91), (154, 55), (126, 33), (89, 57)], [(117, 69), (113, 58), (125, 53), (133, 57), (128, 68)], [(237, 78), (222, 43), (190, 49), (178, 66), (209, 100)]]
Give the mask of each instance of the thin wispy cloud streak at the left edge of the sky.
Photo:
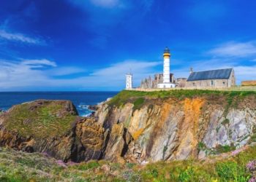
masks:
[(5, 39), (8, 41), (18, 41), (26, 44), (46, 45), (46, 42), (42, 39), (31, 38), (22, 33), (9, 33), (4, 30), (0, 30), (0, 39)]

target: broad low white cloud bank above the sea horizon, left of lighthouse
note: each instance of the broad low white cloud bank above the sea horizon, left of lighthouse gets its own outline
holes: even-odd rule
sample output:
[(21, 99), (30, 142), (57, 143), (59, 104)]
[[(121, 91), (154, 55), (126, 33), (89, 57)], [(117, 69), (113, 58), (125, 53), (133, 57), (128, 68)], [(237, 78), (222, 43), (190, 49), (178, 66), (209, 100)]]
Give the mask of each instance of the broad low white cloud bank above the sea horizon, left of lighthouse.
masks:
[[(85, 69), (77, 67), (58, 67), (50, 60), (0, 60), (1, 90), (122, 90), (125, 87), (125, 74), (132, 68), (135, 86), (142, 78), (154, 73), (154, 66), (161, 62), (146, 62), (126, 60), (107, 68), (92, 71), (89, 76), (83, 76)], [(50, 67), (49, 67), (50, 66)], [(44, 67), (43, 69), (40, 69)], [(53, 68), (55, 67), (55, 68)], [(67, 79), (67, 75), (80, 76)], [(82, 74), (81, 74), (82, 73)], [(55, 77), (58, 76), (58, 77)], [(152, 75), (151, 75), (152, 76)]]

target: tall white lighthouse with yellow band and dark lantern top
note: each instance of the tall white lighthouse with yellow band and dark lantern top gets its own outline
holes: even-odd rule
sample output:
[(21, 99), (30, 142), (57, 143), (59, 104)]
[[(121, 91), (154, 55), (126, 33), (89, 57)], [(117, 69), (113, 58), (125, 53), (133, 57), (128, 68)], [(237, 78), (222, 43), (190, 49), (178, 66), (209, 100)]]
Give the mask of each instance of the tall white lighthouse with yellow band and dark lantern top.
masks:
[(175, 84), (170, 82), (170, 50), (168, 47), (164, 50), (164, 72), (162, 84), (157, 84), (157, 88), (174, 88)]

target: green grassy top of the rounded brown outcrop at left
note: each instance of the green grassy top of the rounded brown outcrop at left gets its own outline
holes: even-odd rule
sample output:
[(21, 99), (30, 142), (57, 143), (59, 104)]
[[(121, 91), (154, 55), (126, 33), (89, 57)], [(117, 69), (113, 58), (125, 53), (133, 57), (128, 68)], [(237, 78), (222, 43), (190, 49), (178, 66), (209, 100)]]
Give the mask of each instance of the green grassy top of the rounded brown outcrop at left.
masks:
[[(50, 101), (43, 106), (37, 102), (23, 103), (15, 106), (8, 114), (4, 126), (8, 130), (18, 130), (19, 135), (26, 137), (46, 137), (63, 135), (70, 130), (77, 116), (66, 111), (64, 105)], [(26, 123), (27, 122), (27, 123)]]

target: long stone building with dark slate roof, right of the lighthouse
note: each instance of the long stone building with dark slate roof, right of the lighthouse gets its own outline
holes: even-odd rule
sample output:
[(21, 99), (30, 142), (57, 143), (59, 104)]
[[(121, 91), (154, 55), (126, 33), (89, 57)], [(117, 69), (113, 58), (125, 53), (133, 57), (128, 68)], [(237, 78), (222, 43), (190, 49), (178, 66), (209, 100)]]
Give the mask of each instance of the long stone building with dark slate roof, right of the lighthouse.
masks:
[(233, 68), (217, 69), (209, 71), (190, 70), (186, 87), (207, 88), (207, 87), (231, 87), (236, 85), (236, 76)]

